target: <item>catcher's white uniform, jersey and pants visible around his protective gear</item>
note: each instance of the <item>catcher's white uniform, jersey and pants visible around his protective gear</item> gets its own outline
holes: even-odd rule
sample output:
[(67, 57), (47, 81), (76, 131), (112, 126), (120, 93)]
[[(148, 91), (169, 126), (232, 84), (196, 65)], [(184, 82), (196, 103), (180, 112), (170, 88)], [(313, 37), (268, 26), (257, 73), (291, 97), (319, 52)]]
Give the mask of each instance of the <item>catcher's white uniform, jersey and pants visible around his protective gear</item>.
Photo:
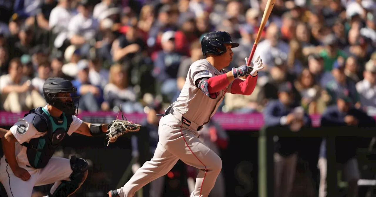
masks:
[[(44, 107), (45, 110), (47, 106)], [(32, 195), (34, 186), (47, 185), (55, 183), (51, 188), (51, 193), (60, 185), (61, 180), (69, 180), (69, 176), (73, 172), (70, 165), (70, 159), (52, 157), (48, 164), (44, 168), (35, 169), (30, 167), (30, 163), (27, 159), (26, 150), (27, 147), (22, 146), (24, 142), (29, 142), (32, 138), (38, 138), (45, 135), (47, 132), (38, 132), (34, 127), (33, 114), (29, 114), (22, 119), (19, 119), (9, 129), (14, 137), (17, 139), (15, 142), (15, 155), (18, 166), (29, 171), (31, 177), (27, 181), (23, 181), (14, 175), (5, 156), (0, 161), (0, 182), (8, 194), (8, 197), (29, 197)], [(82, 123), (76, 116), (72, 116), (73, 121), (70, 124), (68, 135), (71, 135), (76, 131)], [(59, 137), (59, 136), (57, 136)]]

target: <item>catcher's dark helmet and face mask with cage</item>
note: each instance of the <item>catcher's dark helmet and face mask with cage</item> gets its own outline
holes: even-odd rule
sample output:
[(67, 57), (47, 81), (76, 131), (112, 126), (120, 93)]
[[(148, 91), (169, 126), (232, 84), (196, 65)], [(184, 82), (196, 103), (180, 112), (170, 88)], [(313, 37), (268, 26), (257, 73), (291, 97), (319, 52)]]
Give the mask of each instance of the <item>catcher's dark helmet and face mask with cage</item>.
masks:
[[(50, 77), (43, 85), (46, 102), (67, 115), (77, 115), (79, 96), (73, 84), (64, 78)], [(77, 106), (76, 106), (77, 105)]]

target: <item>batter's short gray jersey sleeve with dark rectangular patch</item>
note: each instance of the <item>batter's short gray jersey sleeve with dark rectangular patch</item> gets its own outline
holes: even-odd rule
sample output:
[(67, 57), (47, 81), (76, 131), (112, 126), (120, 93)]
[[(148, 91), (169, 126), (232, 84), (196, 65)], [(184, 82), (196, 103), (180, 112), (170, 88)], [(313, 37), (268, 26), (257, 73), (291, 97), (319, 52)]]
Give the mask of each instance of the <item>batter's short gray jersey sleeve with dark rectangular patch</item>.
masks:
[(197, 80), (201, 78), (209, 78), (214, 76), (213, 67), (206, 59), (198, 60), (191, 65), (190, 71), (188, 71), (188, 77), (196, 84)]

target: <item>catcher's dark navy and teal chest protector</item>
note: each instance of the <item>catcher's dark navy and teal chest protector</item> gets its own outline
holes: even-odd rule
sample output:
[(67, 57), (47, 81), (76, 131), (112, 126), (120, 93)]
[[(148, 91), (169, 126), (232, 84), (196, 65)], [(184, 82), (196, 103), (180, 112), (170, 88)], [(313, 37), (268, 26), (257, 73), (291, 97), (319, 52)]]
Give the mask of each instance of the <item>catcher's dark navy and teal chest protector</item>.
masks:
[(31, 167), (44, 168), (65, 135), (67, 135), (73, 118), (63, 113), (62, 120), (55, 119), (50, 116), (48, 110), (42, 107), (31, 110), (25, 116), (31, 113), (35, 114), (33, 125), (36, 130), (38, 132), (47, 132), (47, 134), (39, 138), (33, 138), (29, 143), (25, 142), (22, 145), (27, 147), (26, 155)]

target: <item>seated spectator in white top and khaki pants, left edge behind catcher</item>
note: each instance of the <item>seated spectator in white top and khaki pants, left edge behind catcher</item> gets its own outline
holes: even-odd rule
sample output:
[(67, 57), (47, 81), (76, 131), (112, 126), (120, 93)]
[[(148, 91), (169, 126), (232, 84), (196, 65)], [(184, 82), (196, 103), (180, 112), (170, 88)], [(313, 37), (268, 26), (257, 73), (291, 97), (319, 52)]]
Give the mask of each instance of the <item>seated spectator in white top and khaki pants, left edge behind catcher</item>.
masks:
[(4, 110), (12, 113), (45, 106), (44, 98), (33, 90), (30, 79), (23, 75), (18, 58), (9, 63), (9, 74), (0, 77), (0, 92)]

